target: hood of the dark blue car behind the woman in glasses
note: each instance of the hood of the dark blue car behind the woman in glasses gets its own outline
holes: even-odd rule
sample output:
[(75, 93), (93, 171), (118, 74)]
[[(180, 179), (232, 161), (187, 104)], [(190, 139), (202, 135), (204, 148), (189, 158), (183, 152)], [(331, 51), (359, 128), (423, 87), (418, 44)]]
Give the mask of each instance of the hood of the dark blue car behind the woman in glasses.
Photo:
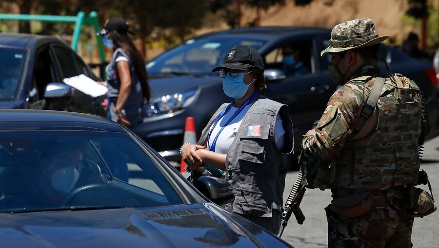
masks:
[(214, 76), (153, 76), (148, 79), (152, 98), (167, 94), (181, 93), (197, 89), (202, 85), (218, 84), (218, 77)]

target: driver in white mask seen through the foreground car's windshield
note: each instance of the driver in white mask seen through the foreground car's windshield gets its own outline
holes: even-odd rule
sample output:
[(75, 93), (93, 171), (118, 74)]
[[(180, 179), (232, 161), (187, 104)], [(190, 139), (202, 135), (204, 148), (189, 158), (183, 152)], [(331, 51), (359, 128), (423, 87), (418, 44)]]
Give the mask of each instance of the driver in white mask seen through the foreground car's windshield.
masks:
[(15, 195), (3, 195), (6, 208), (57, 207), (75, 188), (81, 173), (84, 151), (81, 142), (63, 141), (44, 149), (38, 159), (36, 177)]

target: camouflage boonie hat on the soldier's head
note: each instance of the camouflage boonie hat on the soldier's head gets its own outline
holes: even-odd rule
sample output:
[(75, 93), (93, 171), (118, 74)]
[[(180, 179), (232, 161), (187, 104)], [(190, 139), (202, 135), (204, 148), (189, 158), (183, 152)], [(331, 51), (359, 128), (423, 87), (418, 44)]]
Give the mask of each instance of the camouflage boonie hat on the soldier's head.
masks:
[(374, 22), (371, 19), (360, 18), (345, 21), (332, 29), (329, 47), (321, 51), (320, 55), (375, 45), (383, 42), (388, 37), (387, 35), (379, 36), (377, 34)]

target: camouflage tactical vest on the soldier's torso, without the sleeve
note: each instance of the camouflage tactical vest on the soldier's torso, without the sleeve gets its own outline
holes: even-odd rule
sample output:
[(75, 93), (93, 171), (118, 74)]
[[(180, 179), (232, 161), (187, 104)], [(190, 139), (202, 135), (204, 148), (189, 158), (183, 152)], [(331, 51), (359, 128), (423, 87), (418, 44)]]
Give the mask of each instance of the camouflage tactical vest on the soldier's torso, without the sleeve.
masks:
[(337, 159), (334, 188), (386, 190), (417, 183), (421, 99), (413, 81), (401, 80), (403, 88), (386, 79), (377, 104), (376, 129), (366, 138), (343, 146)]

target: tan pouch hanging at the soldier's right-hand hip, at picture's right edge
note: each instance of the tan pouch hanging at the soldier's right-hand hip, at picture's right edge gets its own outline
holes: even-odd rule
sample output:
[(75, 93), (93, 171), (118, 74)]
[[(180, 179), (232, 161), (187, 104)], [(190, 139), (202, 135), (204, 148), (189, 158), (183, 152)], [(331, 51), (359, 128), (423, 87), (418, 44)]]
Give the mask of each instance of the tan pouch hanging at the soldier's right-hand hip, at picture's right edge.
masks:
[(436, 207), (435, 200), (423, 189), (415, 186), (408, 189), (409, 210), (408, 215), (412, 217), (424, 217), (438, 208)]

